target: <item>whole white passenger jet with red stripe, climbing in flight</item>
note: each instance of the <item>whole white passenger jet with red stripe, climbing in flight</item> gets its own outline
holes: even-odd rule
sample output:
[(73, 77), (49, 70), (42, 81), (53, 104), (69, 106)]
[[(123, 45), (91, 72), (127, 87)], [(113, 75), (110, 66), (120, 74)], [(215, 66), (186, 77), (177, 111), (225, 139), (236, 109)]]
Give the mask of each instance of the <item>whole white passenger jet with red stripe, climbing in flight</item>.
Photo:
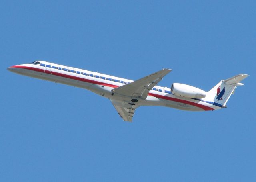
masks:
[(173, 83), (171, 88), (158, 86), (171, 69), (162, 69), (138, 80), (128, 80), (46, 61), (33, 61), (7, 68), (9, 71), (90, 90), (110, 99), (124, 121), (132, 121), (140, 106), (166, 106), (188, 111), (210, 111), (226, 108), (237, 86), (248, 74), (221, 80), (208, 92), (194, 86)]

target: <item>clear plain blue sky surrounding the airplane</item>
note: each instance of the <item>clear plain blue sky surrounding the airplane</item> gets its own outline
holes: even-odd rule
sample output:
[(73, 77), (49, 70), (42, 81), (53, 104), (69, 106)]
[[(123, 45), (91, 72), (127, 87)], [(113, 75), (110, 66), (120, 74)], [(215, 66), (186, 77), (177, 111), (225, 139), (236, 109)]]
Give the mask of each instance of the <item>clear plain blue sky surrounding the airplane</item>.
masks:
[[(1, 1), (0, 181), (256, 180), (254, 1)], [(141, 107), (122, 121), (87, 90), (20, 76), (45, 60), (210, 90), (250, 74), (214, 112)]]

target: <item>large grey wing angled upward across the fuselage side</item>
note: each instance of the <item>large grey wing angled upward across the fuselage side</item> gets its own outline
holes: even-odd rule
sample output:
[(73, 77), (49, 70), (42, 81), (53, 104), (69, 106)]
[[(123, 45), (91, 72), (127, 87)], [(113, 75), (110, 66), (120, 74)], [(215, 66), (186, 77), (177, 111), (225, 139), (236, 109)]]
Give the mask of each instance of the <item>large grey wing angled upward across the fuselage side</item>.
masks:
[(171, 71), (172, 70), (170, 69), (162, 69), (129, 84), (114, 88), (112, 89), (112, 92), (123, 96), (133, 96), (146, 99), (148, 92)]

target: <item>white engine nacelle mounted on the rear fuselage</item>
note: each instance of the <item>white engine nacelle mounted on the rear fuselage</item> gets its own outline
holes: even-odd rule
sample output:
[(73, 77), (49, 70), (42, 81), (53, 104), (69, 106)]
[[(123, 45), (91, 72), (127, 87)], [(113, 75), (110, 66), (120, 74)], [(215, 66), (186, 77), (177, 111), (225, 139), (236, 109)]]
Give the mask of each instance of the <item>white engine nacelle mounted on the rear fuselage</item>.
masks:
[(171, 87), (172, 94), (179, 96), (179, 97), (186, 97), (186, 98), (205, 98), (206, 92), (194, 86), (185, 85), (181, 83), (174, 83)]

